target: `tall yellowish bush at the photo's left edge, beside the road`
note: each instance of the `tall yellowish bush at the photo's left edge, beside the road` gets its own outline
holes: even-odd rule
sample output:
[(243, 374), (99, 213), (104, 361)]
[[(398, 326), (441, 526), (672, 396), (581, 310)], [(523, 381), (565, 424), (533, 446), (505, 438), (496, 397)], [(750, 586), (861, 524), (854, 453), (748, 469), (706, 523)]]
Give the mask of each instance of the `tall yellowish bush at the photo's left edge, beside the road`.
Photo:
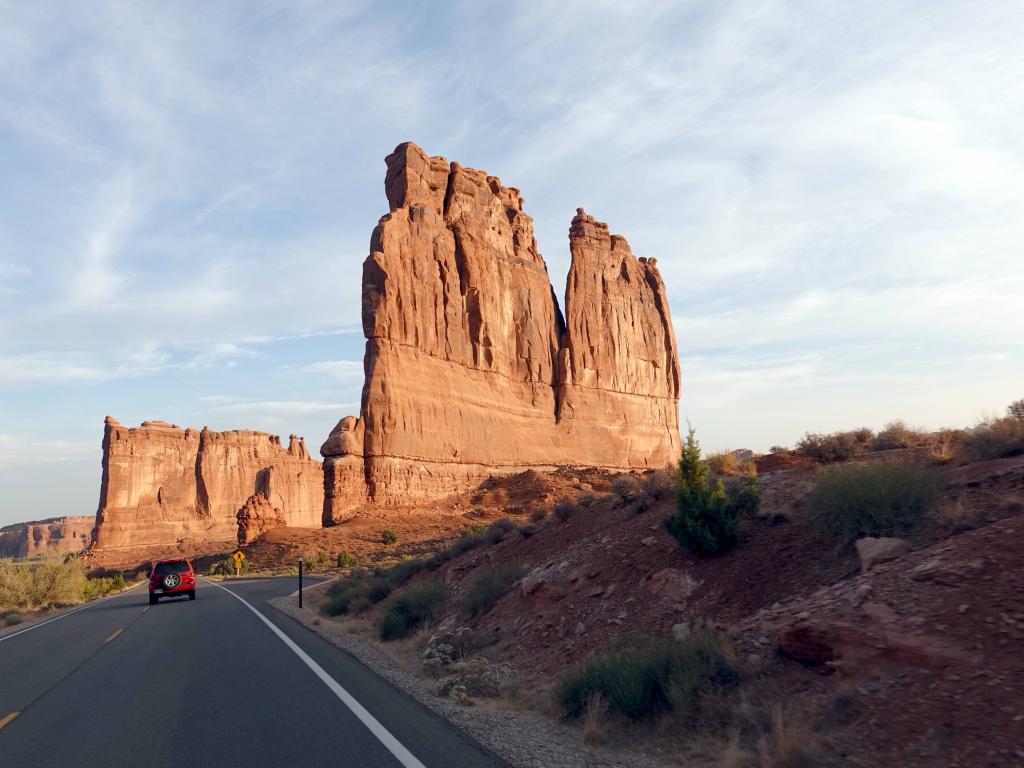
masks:
[(52, 555), (24, 565), (0, 558), (0, 608), (73, 605), (85, 589), (85, 564), (77, 557)]

